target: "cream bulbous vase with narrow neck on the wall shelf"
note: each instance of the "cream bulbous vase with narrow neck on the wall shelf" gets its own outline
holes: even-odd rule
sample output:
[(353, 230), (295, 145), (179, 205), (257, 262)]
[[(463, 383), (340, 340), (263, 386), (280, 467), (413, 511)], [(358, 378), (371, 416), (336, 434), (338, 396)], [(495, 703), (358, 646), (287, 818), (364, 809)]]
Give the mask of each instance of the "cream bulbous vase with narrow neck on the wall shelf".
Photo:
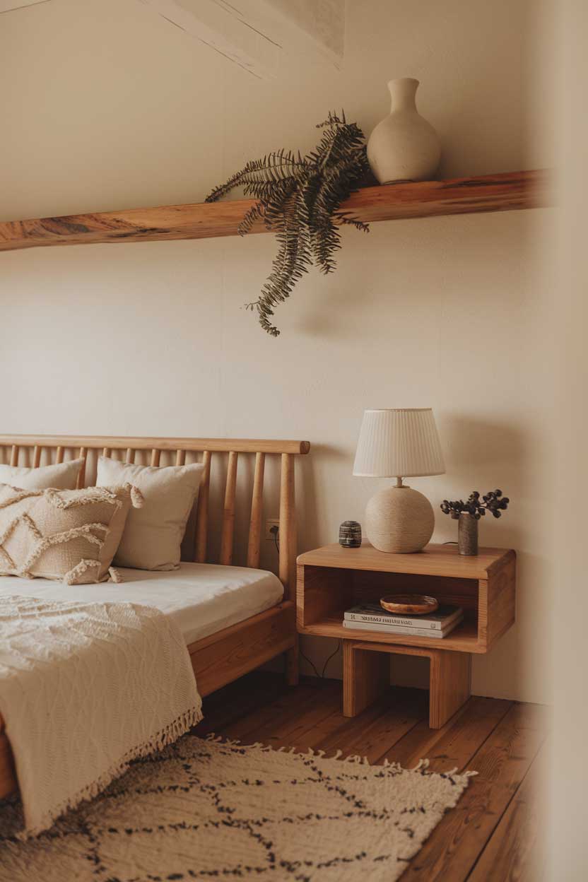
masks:
[(418, 113), (414, 96), (419, 80), (391, 79), (391, 111), (368, 139), (368, 162), (380, 183), (428, 181), (441, 158), (439, 137)]

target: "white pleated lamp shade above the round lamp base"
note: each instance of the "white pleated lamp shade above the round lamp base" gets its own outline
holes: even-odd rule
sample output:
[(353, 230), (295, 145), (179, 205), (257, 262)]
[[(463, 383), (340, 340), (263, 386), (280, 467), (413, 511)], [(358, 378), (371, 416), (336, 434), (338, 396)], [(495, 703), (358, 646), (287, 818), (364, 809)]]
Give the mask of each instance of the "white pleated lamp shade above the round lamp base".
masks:
[(430, 407), (364, 411), (354, 475), (410, 478), (444, 472), (443, 453)]

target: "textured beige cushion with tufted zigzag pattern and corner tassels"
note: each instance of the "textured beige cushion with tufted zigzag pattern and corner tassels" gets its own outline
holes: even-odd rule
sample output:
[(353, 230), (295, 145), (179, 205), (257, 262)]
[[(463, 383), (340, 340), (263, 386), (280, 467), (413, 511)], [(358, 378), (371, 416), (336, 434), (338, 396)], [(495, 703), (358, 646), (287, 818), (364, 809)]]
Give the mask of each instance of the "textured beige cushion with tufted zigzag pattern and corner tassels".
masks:
[(130, 484), (84, 490), (0, 484), (0, 575), (67, 585), (107, 579), (130, 507), (142, 503)]

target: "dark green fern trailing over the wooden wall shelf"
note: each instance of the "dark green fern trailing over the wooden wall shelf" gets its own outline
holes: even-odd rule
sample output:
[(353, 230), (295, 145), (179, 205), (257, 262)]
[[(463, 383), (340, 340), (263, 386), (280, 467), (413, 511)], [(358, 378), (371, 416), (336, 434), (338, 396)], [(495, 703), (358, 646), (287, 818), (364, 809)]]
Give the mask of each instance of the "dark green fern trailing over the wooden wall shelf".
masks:
[(272, 324), (275, 308), (292, 294), (296, 282), (315, 264), (323, 273), (336, 268), (334, 254), (341, 247), (340, 224), (368, 232), (368, 224), (340, 210), (361, 178), (368, 174), (365, 137), (356, 123), (329, 113), (319, 123), (322, 136), (306, 156), (289, 150), (268, 153), (247, 163), (227, 183), (215, 187), (206, 202), (215, 202), (235, 187), (257, 199), (239, 225), (245, 235), (256, 221), (276, 233), (278, 254), (272, 272), (249, 310), (257, 310), (264, 331), (279, 335)]

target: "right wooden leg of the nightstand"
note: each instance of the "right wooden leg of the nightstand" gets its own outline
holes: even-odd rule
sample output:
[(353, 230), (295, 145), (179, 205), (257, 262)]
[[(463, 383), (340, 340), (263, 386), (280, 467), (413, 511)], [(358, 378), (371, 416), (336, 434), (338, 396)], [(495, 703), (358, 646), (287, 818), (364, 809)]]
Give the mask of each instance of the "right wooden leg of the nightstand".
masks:
[(472, 656), (436, 650), (430, 660), (428, 725), (441, 729), (471, 695)]

